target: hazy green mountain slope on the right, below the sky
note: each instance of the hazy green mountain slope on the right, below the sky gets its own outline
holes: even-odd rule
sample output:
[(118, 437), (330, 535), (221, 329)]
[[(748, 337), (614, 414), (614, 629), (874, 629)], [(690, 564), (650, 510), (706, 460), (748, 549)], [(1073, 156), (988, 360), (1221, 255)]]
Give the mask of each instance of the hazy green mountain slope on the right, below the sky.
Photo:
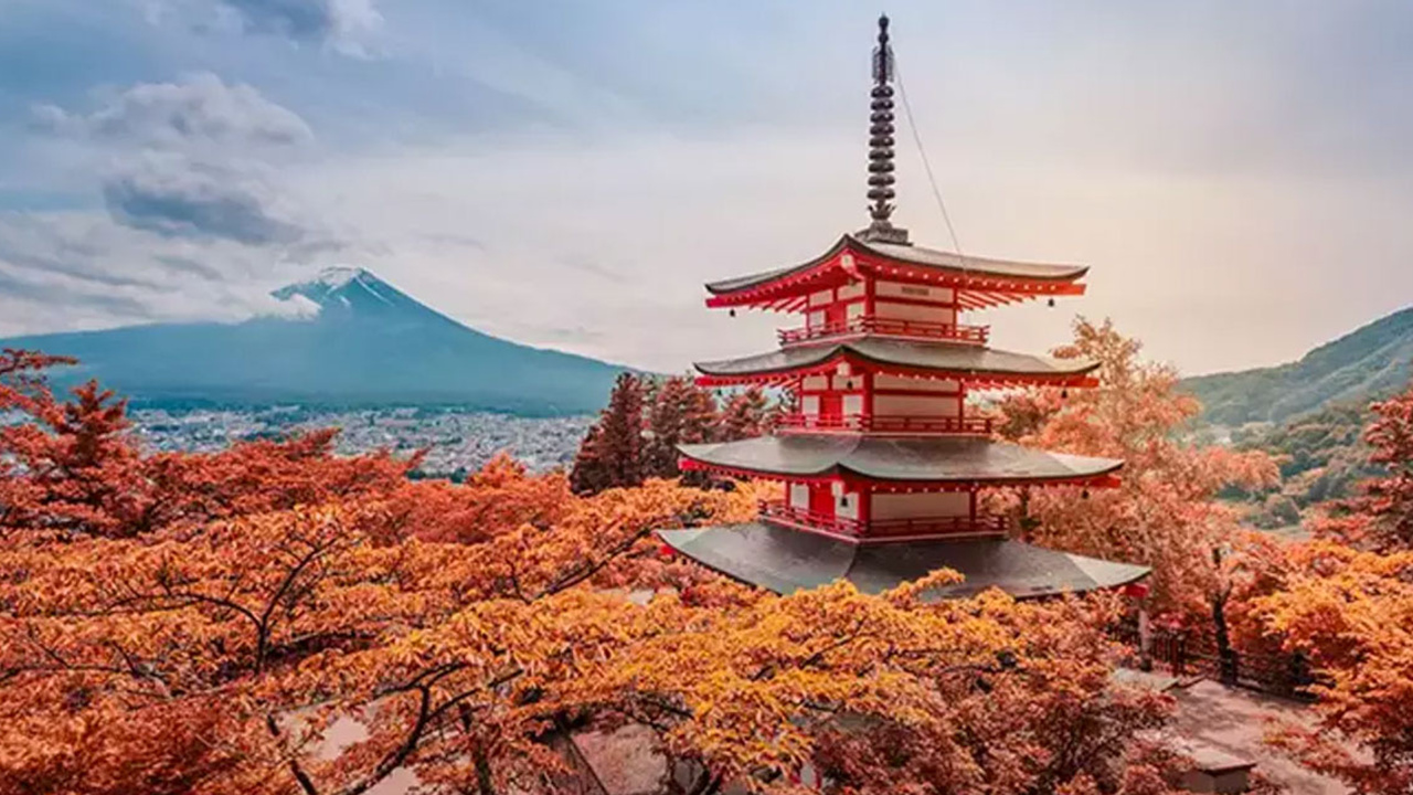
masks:
[(1413, 378), (1413, 307), (1376, 320), (1300, 361), (1202, 375), (1183, 386), (1202, 402), (1202, 420), (1241, 426), (1280, 423), (1325, 406), (1366, 403)]

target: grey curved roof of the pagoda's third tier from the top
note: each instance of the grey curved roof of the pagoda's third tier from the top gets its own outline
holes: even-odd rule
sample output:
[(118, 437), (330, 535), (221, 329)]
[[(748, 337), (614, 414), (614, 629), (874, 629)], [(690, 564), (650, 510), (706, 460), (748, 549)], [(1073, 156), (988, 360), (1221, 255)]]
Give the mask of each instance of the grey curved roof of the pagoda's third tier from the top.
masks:
[(680, 444), (677, 450), (705, 468), (798, 480), (856, 477), (914, 484), (998, 485), (1087, 482), (1123, 467), (1123, 461), (1116, 458), (1048, 453), (975, 436), (783, 434)]

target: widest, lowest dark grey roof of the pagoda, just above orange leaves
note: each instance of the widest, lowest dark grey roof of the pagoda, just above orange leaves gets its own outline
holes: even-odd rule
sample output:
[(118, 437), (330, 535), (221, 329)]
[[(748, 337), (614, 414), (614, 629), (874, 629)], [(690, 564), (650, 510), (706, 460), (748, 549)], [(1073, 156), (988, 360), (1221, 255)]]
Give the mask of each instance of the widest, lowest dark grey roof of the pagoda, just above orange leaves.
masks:
[(986, 588), (1037, 598), (1121, 587), (1150, 571), (1145, 566), (993, 538), (858, 545), (764, 522), (657, 535), (708, 569), (777, 594), (841, 579), (876, 594), (937, 569), (952, 569), (965, 580), (931, 591), (933, 598), (961, 598)]

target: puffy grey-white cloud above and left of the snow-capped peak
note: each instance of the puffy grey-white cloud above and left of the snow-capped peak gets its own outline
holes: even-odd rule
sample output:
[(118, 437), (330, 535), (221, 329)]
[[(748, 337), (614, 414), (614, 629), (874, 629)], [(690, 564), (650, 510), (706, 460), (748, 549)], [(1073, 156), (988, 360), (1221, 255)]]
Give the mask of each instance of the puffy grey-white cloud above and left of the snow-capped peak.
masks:
[(305, 239), (273, 174), (314, 133), (249, 85), (212, 74), (138, 83), (88, 115), (38, 108), (34, 123), (105, 153), (100, 191), (119, 224), (247, 246)]

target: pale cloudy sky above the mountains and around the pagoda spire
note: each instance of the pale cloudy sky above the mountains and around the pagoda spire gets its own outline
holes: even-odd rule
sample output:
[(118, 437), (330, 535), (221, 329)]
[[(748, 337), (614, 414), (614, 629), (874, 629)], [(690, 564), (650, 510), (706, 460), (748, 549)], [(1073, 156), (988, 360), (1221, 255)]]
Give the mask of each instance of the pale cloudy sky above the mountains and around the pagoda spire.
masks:
[[(1092, 267), (1186, 373), (1413, 304), (1413, 4), (893, 1), (964, 253)], [(666, 372), (797, 318), (702, 282), (866, 225), (879, 8), (842, 0), (0, 0), (0, 335), (284, 313), (362, 266), (478, 330)], [(952, 248), (900, 130), (899, 211)]]

